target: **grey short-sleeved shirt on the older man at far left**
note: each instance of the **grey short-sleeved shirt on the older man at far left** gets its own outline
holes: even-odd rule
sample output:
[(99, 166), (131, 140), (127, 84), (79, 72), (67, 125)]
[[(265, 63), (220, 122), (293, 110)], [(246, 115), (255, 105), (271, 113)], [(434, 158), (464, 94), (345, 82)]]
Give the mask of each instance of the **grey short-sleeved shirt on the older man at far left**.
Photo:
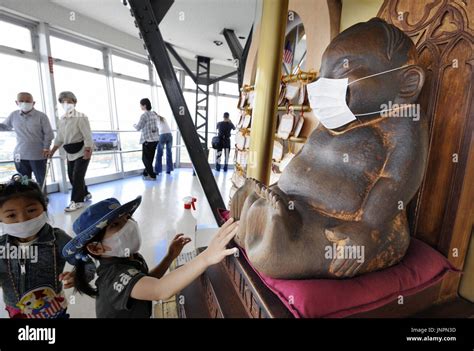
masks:
[(0, 126), (15, 131), (15, 159), (44, 160), (43, 149), (49, 150), (54, 133), (43, 112), (35, 109), (28, 113), (13, 111)]

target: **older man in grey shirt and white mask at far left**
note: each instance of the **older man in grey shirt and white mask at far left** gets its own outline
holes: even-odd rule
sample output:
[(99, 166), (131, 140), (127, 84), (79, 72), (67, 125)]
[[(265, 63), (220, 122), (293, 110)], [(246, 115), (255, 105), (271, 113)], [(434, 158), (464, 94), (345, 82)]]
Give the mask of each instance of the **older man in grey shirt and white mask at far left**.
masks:
[(54, 138), (53, 129), (48, 116), (35, 110), (30, 93), (18, 93), (16, 104), (19, 110), (13, 111), (0, 123), (0, 129), (15, 131), (17, 144), (13, 157), (18, 173), (28, 178), (34, 173), (36, 182), (42, 186), (46, 176), (46, 160)]

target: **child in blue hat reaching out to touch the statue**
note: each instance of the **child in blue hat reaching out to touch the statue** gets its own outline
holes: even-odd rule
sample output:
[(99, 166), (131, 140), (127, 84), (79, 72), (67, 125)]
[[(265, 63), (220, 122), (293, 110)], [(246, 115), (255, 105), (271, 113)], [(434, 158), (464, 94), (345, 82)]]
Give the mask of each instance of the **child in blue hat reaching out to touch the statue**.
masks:
[[(76, 290), (96, 298), (98, 318), (150, 318), (151, 301), (177, 294), (210, 265), (237, 250), (226, 248), (237, 233), (237, 222), (230, 219), (188, 264), (164, 275), (190, 241), (178, 234), (163, 261), (149, 270), (138, 253), (140, 229), (132, 218), (140, 203), (140, 196), (124, 205), (110, 198), (88, 207), (73, 224), (76, 237), (63, 249), (66, 260), (75, 266)], [(91, 257), (99, 262), (95, 288), (88, 283), (85, 269)]]

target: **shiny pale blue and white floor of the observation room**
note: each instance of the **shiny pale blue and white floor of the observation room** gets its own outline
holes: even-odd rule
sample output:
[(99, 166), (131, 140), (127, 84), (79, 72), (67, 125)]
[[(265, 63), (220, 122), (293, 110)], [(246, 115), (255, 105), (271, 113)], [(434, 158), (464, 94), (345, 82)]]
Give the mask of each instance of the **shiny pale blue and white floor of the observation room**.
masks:
[[(221, 189), (224, 201), (227, 203), (231, 187), (232, 171), (216, 173), (216, 182)], [(168, 241), (175, 235), (175, 222), (181, 214), (185, 196), (194, 196), (198, 199), (195, 216), (198, 226), (216, 226), (214, 217), (207, 203), (197, 177), (192, 175), (191, 169), (178, 169), (171, 175), (162, 174), (156, 182), (143, 181), (141, 177), (133, 177), (89, 187), (92, 193), (92, 203), (108, 197), (116, 197), (124, 203), (136, 196), (143, 197), (142, 204), (135, 212), (134, 218), (140, 224), (142, 233), (143, 254), (150, 267), (157, 264), (166, 252)], [(69, 200), (68, 194), (51, 194), (48, 213), (52, 225), (64, 229), (72, 235), (72, 223), (79, 216), (80, 211), (71, 214), (64, 212)], [(66, 270), (71, 266), (66, 265)], [(70, 296), (72, 289), (67, 290)], [(74, 301), (74, 304), (71, 302)], [(77, 294), (70, 298), (69, 313), (72, 318), (95, 317), (94, 300)], [(0, 317), (7, 317), (3, 301), (0, 299)]]

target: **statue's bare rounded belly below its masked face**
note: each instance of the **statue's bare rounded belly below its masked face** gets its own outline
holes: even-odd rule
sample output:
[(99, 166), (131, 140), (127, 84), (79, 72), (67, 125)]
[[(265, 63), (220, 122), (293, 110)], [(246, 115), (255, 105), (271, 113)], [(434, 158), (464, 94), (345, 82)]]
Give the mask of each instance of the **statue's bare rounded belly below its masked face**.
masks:
[(337, 136), (317, 130), (287, 166), (278, 186), (323, 213), (350, 219), (380, 176), (386, 154), (374, 128)]

